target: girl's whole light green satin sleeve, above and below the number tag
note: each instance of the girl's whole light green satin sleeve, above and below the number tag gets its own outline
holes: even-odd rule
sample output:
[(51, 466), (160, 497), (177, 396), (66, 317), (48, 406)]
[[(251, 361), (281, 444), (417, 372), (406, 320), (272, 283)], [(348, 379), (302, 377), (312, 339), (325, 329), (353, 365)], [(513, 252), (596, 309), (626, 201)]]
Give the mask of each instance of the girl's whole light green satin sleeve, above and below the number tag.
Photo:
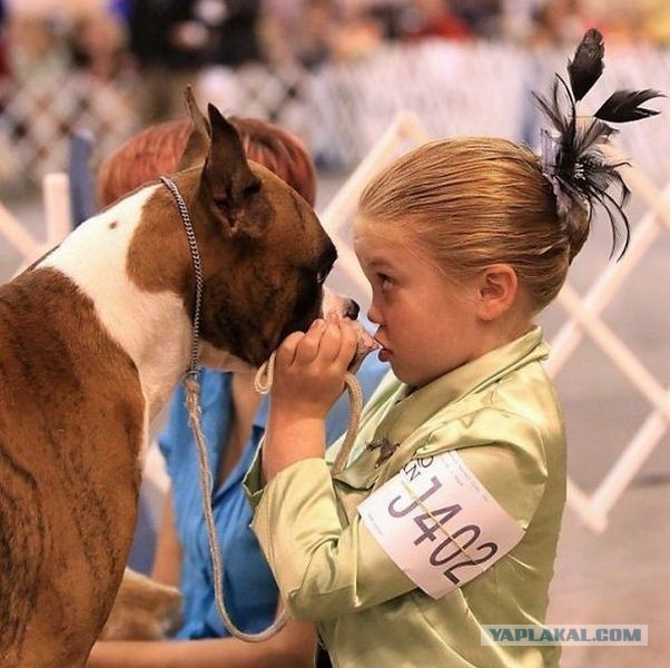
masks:
[[(525, 530), (546, 479), (541, 443), (533, 426), (523, 420), (512, 416), (506, 430), (501, 430), (500, 413), (491, 424), (499, 440), (492, 439), (492, 418), (491, 412), (483, 411), (443, 425), (430, 434), (430, 448), (418, 449), (416, 454), (457, 450), (480, 482)], [(357, 513), (348, 524), (341, 521), (324, 460), (296, 462), (264, 489), (256, 463), (246, 484), (256, 504), (252, 528), (293, 616), (327, 619), (416, 589)]]

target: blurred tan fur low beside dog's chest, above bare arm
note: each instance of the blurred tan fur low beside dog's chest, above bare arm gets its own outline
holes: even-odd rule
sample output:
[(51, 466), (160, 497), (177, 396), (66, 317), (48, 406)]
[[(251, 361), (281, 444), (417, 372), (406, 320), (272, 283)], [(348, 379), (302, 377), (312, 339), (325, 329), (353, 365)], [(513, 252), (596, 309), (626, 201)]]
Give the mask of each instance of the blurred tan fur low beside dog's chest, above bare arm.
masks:
[(117, 593), (100, 640), (159, 640), (181, 623), (181, 593), (130, 569)]

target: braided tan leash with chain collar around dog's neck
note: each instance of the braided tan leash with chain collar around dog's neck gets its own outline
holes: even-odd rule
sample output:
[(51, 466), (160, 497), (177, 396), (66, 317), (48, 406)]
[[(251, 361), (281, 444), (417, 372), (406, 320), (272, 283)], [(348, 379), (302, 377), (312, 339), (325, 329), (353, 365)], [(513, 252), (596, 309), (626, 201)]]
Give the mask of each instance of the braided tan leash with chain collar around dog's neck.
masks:
[[(186, 237), (188, 240), (188, 248), (190, 250), (194, 272), (196, 275), (196, 303), (194, 307), (194, 321), (193, 321), (193, 335), (191, 335), (191, 348), (190, 348), (190, 362), (186, 376), (184, 379), (184, 386), (186, 389), (186, 409), (188, 411), (188, 423), (194, 433), (196, 445), (198, 450), (198, 464), (200, 473), (200, 493), (203, 495), (203, 509), (205, 513), (205, 523), (207, 525), (207, 539), (209, 542), (209, 556), (211, 558), (211, 570), (214, 573), (214, 598), (216, 608), (224, 622), (224, 626), (230, 633), (230, 636), (244, 640), (246, 642), (263, 642), (268, 640), (276, 633), (278, 633), (288, 620), (288, 613), (283, 609), (273, 623), (265, 630), (258, 633), (246, 633), (235, 626), (228, 611), (226, 610), (225, 592), (224, 592), (224, 562), (221, 559), (218, 541), (216, 539), (216, 525), (214, 522), (214, 511), (211, 509), (211, 492), (214, 489), (214, 480), (211, 477), (211, 469), (207, 459), (207, 440), (203, 433), (200, 425), (200, 418), (203, 410), (200, 407), (200, 381), (199, 381), (199, 369), (198, 369), (198, 353), (199, 353), (199, 328), (200, 328), (200, 307), (203, 303), (203, 264), (200, 261), (200, 253), (198, 250), (198, 244), (196, 240), (195, 230), (188, 214), (188, 207), (184, 202), (184, 197), (179, 193), (177, 186), (167, 177), (160, 177), (161, 183), (173, 195), (181, 222), (186, 229)], [(254, 387), (259, 394), (267, 394), (273, 385), (275, 369), (275, 353), (273, 353), (267, 362), (265, 362), (256, 374)], [(345, 375), (345, 384), (349, 393), (349, 400), (352, 410), (349, 414), (349, 423), (347, 433), (342, 445), (339, 453), (333, 464), (331, 473), (335, 475), (346, 464), (351, 449), (354, 444), (356, 432), (358, 431), (358, 423), (361, 420), (361, 411), (363, 407), (363, 394), (361, 386), (356, 377), (348, 373)]]

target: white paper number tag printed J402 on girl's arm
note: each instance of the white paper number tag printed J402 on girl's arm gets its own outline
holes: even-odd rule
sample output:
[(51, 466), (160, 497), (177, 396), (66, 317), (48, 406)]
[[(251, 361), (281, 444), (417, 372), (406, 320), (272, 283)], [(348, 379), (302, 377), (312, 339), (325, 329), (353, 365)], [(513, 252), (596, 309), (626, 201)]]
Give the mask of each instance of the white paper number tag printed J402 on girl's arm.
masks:
[(470, 582), (522, 538), (454, 451), (408, 462), (358, 505), (382, 549), (428, 596)]

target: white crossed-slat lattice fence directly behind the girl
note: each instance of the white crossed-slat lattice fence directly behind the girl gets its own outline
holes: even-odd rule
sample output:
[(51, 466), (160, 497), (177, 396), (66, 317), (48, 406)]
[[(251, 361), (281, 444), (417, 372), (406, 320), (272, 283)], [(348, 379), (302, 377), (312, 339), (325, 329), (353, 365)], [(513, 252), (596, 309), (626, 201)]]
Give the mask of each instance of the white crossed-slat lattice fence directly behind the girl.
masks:
[[(356, 200), (375, 171), (396, 157), (408, 144), (421, 144), (427, 136), (416, 116), (408, 112), (398, 115), (321, 215), (324, 226), (338, 245), (339, 266), (334, 282), (346, 285), (363, 304), (370, 302), (367, 283), (351, 248), (347, 234), (347, 225), (355, 210)], [(670, 425), (670, 387), (667, 381), (657, 377), (642, 363), (639, 352), (627, 346), (601, 317), (604, 307), (624, 285), (632, 269), (639, 265), (659, 236), (670, 230), (670, 186), (661, 193), (638, 167), (622, 168), (622, 176), (633, 195), (649, 207), (649, 212), (634, 227), (623, 259), (619, 263), (610, 262), (584, 296), (580, 296), (569, 283), (564, 285), (558, 302), (568, 312), (569, 318), (551, 342), (552, 354), (546, 365), (548, 372), (555, 376), (587, 335), (650, 406), (648, 418), (591, 494), (584, 492), (572, 478), (568, 481), (569, 505), (595, 532), (607, 528), (608, 513)], [(662, 281), (663, 277), (659, 276), (658, 279)], [(594, 369), (593, 373), (599, 372)]]

